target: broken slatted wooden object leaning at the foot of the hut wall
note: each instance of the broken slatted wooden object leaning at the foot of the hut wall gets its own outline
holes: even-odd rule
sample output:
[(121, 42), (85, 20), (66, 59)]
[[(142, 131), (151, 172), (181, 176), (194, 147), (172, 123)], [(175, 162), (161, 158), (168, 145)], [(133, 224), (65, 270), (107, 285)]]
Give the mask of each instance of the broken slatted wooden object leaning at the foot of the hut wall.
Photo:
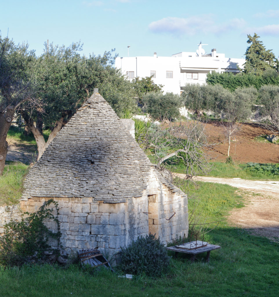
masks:
[(81, 249), (78, 252), (78, 258), (82, 265), (88, 264), (91, 267), (104, 266), (105, 268), (114, 271), (111, 268), (111, 264), (98, 249)]

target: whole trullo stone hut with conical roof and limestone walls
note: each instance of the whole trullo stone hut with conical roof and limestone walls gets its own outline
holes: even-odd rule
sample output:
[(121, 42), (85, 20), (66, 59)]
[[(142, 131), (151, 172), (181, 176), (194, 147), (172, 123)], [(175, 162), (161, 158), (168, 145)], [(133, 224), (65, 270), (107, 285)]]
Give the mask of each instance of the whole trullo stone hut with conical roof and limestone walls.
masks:
[(187, 236), (187, 196), (149, 162), (97, 90), (31, 168), (21, 208), (34, 212), (50, 198), (68, 252), (99, 247), (112, 255), (149, 232), (164, 243)]

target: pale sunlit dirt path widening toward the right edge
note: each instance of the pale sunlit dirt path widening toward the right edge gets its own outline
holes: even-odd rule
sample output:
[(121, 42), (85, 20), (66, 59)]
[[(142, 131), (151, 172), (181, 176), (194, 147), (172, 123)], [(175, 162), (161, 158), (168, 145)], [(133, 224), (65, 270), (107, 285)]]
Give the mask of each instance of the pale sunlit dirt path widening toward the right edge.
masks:
[[(184, 178), (183, 174), (176, 176)], [(198, 181), (228, 184), (241, 189), (246, 206), (230, 212), (231, 225), (279, 242), (279, 181), (199, 176)]]

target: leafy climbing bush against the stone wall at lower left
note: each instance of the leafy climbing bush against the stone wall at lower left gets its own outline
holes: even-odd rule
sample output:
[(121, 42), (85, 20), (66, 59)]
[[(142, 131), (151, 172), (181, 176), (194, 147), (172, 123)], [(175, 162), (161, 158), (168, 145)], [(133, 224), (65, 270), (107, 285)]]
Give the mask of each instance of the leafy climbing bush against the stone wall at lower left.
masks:
[[(54, 204), (53, 209), (47, 208)], [(48, 244), (50, 237), (59, 240), (58, 204), (52, 199), (46, 201), (38, 211), (29, 214), (21, 222), (11, 221), (4, 226), (4, 235), (0, 237), (0, 264), (4, 266), (20, 266), (28, 257), (37, 254), (37, 259), (44, 256), (44, 252), (51, 249)], [(45, 226), (44, 221), (54, 220), (57, 223), (58, 232), (53, 233)]]

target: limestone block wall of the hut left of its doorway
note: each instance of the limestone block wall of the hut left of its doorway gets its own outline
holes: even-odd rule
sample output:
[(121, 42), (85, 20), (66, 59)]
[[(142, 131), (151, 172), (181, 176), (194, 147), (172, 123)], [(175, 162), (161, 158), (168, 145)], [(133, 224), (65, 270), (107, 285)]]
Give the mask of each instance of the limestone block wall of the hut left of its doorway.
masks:
[[(51, 198), (21, 200), (23, 211), (34, 212)], [(140, 235), (148, 234), (147, 203), (144, 197), (124, 203), (92, 202), (92, 198), (52, 198), (58, 202), (62, 247), (67, 252), (78, 249), (103, 249), (114, 255)], [(45, 222), (56, 232), (55, 222)], [(53, 247), (56, 242), (52, 242)]]

